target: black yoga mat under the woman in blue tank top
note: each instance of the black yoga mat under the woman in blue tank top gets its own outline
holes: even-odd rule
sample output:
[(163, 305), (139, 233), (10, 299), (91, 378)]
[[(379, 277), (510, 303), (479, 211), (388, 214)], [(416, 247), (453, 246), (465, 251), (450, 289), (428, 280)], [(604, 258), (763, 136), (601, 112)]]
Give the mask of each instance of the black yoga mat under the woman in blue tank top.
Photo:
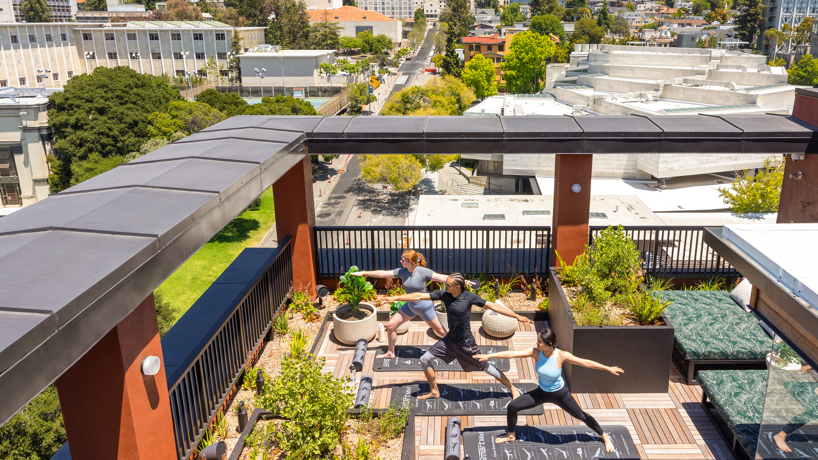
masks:
[(517, 440), (503, 444), (494, 440), (506, 434), (506, 427), (468, 427), (463, 429), (463, 452), (470, 460), (639, 459), (626, 427), (603, 425), (602, 429), (613, 441), (613, 452), (605, 452), (602, 438), (585, 425), (518, 426)]

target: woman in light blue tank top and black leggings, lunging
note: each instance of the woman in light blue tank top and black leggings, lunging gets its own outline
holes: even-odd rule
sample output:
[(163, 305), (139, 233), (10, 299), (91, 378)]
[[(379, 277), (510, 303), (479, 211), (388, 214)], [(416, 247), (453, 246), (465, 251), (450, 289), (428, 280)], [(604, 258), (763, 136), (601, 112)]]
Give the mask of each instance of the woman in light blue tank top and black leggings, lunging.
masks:
[(498, 436), (497, 442), (504, 443), (513, 441), (515, 437), (515, 428), (517, 427), (517, 413), (525, 409), (531, 409), (539, 404), (552, 403), (560, 406), (565, 412), (571, 414), (571, 417), (584, 422), (597, 435), (602, 436), (605, 440), (605, 450), (613, 452), (613, 443), (605, 431), (602, 431), (600, 424), (596, 419), (591, 417), (579, 408), (577, 401), (571, 396), (568, 386), (562, 377), (563, 363), (577, 364), (586, 368), (600, 369), (619, 375), (623, 373), (621, 368), (609, 367), (599, 364), (596, 361), (583, 360), (570, 354), (568, 351), (562, 351), (557, 347), (557, 338), (554, 331), (551, 329), (542, 329), (537, 334), (537, 347), (528, 348), (527, 350), (510, 350), (501, 351), (499, 353), (492, 353), (491, 355), (474, 355), (474, 358), (485, 361), (490, 358), (531, 358), (537, 364), (534, 364), (534, 369), (537, 371), (537, 380), (539, 387), (532, 391), (528, 391), (519, 398), (511, 401), (509, 404), (508, 413), (506, 413), (506, 423), (508, 425), (508, 433), (505, 436)]

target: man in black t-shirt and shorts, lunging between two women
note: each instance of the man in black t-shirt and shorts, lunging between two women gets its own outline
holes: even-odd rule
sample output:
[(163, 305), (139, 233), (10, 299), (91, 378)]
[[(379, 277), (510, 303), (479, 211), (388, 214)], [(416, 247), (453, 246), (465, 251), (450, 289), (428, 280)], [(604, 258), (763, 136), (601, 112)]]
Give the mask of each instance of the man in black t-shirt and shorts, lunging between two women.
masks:
[[(452, 273), (446, 279), (446, 290), (434, 291), (434, 293), (411, 293), (396, 297), (386, 297), (386, 301), (442, 301), (446, 306), (448, 315), (449, 333), (446, 337), (435, 343), (425, 355), (420, 358), (420, 367), (426, 380), (429, 381), (429, 393), (418, 396), (419, 400), (429, 398), (439, 398), (438, 382), (434, 377), (432, 361), (435, 358), (443, 360), (444, 363), (451, 363), (457, 360), (465, 372), (482, 370), (488, 375), (499, 380), (511, 391), (512, 398), (519, 396), (519, 391), (509, 382), (508, 377), (501, 373), (492, 364), (485, 360), (478, 360), (474, 357), (480, 352), (474, 335), (471, 333), (471, 306), (476, 305), (488, 310), (497, 311), (501, 315), (516, 318), (523, 323), (533, 323), (531, 319), (517, 315), (514, 311), (505, 306), (485, 301), (483, 297), (465, 290), (465, 278), (460, 273)], [(430, 302), (431, 303), (431, 302)], [(433, 309), (434, 311), (434, 309)]]

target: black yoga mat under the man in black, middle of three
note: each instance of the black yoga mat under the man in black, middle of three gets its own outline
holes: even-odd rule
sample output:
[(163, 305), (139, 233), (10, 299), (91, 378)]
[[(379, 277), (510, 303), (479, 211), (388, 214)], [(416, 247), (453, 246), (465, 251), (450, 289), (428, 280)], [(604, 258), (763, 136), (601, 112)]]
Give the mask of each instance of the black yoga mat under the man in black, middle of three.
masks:
[[(537, 388), (536, 383), (515, 383), (520, 393)], [(413, 408), (415, 415), (506, 415), (506, 405), (511, 393), (500, 383), (446, 384), (438, 383), (440, 397), (418, 400), (417, 396), (429, 392), (428, 383), (401, 383), (392, 387), (390, 404), (398, 402)], [(521, 415), (545, 413), (542, 405), (521, 412)]]

